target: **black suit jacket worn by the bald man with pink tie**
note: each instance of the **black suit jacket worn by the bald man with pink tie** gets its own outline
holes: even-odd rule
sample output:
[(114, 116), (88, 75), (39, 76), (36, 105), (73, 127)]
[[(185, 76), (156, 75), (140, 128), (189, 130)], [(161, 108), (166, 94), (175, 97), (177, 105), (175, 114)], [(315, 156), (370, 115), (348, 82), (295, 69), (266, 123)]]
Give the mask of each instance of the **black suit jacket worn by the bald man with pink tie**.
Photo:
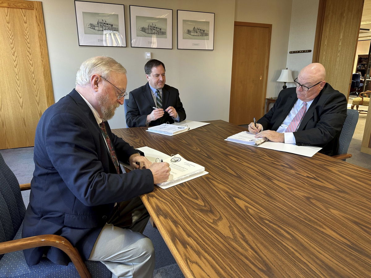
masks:
[[(264, 130), (277, 130), (294, 106), (298, 97), (296, 87), (283, 89), (272, 109), (257, 121)], [(328, 83), (313, 100), (308, 111), (293, 135), (296, 145), (322, 147), (319, 151), (326, 155), (336, 155), (339, 136), (347, 117), (347, 99)]]

